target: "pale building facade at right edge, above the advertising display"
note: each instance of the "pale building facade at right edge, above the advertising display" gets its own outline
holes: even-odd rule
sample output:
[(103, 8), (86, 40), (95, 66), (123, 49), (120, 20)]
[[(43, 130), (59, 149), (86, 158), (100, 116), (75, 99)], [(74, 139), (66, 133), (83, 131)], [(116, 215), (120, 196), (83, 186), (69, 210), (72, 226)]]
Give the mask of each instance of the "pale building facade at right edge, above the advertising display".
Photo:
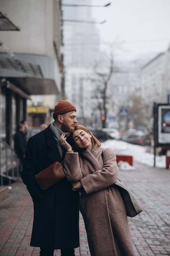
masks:
[[(152, 126), (153, 105), (170, 103), (170, 48), (141, 67), (141, 95), (149, 106), (146, 126)], [(148, 113), (147, 113), (148, 115)]]

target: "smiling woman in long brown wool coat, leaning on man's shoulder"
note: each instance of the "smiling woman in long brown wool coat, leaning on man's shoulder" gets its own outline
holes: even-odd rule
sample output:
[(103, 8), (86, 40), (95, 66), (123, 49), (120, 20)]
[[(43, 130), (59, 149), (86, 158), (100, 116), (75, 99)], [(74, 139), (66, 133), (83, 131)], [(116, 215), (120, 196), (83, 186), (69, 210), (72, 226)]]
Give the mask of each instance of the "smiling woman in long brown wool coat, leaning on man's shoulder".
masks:
[(79, 189), (80, 211), (84, 218), (91, 256), (135, 256), (126, 209), (119, 190), (112, 186), (118, 176), (116, 156), (84, 126), (73, 132), (73, 152), (65, 135), (64, 172), (72, 189)]

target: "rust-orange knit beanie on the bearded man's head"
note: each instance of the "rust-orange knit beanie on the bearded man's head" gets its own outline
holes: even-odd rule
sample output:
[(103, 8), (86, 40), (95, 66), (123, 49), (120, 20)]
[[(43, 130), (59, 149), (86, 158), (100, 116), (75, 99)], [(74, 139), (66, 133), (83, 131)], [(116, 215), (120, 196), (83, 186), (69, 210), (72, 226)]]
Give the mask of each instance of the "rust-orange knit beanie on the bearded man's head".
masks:
[(53, 118), (56, 119), (58, 115), (63, 115), (70, 111), (77, 111), (75, 106), (73, 106), (68, 101), (59, 101), (57, 105), (55, 106), (54, 112), (53, 112)]

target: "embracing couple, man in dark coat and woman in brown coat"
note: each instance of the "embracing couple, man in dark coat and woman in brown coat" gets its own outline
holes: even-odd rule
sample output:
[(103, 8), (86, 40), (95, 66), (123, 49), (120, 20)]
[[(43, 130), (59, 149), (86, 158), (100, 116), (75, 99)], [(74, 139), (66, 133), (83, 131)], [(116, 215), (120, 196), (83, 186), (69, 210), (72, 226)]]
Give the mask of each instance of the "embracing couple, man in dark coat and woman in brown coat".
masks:
[[(53, 256), (54, 249), (75, 256), (80, 205), (91, 256), (135, 256), (124, 203), (111, 186), (118, 176), (115, 154), (76, 125), (76, 117), (75, 106), (59, 101), (55, 121), (28, 141), (21, 177), (34, 203), (30, 245), (40, 247), (40, 256)], [(42, 191), (35, 174), (63, 159), (66, 177)]]

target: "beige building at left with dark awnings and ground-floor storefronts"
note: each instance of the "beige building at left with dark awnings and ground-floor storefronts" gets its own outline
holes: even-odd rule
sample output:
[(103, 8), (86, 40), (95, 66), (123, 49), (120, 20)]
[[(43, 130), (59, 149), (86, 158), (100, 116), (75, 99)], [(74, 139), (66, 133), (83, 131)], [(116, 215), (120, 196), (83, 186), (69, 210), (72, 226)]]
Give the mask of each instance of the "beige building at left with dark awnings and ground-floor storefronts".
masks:
[(20, 121), (30, 128), (49, 124), (55, 104), (64, 99), (61, 47), (60, 0), (0, 0), (1, 177), (10, 168), (5, 150), (11, 156)]

